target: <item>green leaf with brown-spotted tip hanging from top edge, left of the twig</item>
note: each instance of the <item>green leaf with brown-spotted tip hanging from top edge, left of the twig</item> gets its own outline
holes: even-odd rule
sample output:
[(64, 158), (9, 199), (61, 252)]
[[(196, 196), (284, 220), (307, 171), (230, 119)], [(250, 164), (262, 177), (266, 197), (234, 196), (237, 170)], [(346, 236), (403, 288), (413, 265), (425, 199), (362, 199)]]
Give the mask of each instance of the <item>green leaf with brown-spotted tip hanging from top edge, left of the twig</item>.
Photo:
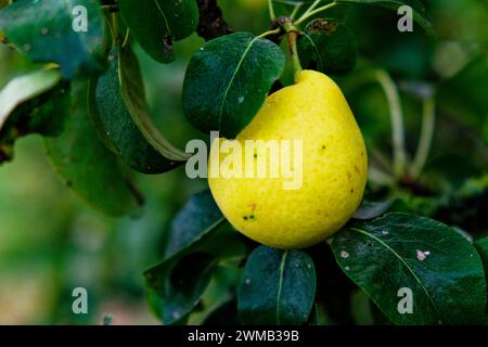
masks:
[(118, 0), (130, 33), (156, 61), (175, 60), (172, 41), (190, 36), (198, 25), (195, 0)]

